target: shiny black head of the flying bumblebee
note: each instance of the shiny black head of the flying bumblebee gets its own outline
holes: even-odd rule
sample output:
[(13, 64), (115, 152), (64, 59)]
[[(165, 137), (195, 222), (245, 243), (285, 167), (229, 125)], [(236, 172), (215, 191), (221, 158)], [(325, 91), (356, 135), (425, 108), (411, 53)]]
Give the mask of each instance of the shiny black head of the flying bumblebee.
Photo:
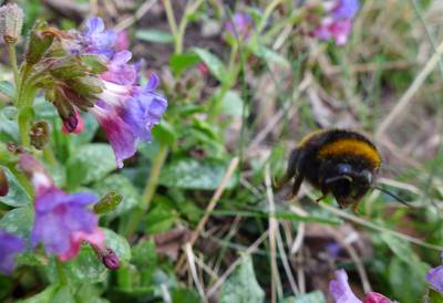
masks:
[(371, 188), (374, 174), (356, 165), (340, 163), (329, 167), (322, 188), (332, 192), (340, 206), (360, 200)]

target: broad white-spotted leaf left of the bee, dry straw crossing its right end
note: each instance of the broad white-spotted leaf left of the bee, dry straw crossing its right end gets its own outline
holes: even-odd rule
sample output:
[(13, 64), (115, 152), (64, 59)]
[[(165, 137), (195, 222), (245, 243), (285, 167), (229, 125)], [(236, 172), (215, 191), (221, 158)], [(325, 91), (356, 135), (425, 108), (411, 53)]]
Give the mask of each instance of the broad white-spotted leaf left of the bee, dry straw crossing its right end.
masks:
[[(196, 160), (182, 158), (168, 164), (163, 170), (159, 184), (183, 189), (214, 190), (226, 174), (227, 164), (219, 160)], [(233, 188), (236, 179), (233, 177), (227, 188)]]

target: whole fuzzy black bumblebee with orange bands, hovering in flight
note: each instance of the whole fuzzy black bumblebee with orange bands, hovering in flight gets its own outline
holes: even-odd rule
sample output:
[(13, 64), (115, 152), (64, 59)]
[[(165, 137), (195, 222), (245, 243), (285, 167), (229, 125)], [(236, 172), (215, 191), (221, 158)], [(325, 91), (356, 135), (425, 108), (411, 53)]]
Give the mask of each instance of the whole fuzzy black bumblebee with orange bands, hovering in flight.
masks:
[(377, 147), (363, 135), (344, 129), (318, 130), (292, 150), (281, 185), (295, 178), (296, 196), (306, 179), (323, 196), (334, 196), (340, 207), (356, 208), (371, 188), (380, 165)]

